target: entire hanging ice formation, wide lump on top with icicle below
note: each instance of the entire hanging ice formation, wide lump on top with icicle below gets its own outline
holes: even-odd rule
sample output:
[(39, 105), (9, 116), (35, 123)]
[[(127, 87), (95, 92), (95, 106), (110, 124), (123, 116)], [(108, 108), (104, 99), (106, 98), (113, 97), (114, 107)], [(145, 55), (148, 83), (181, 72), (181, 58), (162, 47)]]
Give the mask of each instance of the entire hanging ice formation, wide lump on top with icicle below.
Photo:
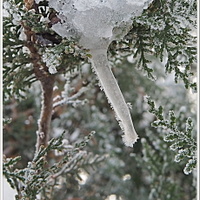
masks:
[(141, 15), (153, 0), (49, 0), (61, 23), (54, 31), (74, 38), (90, 50), (91, 63), (124, 132), (126, 146), (137, 141), (129, 108), (109, 67), (107, 49), (113, 40), (122, 39), (131, 29), (131, 18)]

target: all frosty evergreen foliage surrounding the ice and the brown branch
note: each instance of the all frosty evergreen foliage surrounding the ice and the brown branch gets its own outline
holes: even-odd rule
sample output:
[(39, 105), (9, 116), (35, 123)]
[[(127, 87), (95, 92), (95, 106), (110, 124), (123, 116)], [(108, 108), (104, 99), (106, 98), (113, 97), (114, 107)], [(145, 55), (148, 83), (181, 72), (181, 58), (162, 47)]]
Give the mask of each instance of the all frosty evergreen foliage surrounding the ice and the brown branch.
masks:
[[(4, 9), (8, 12), (3, 17), (4, 150), (10, 146), (20, 146), (21, 150), (11, 152), (14, 158), (4, 158), (3, 173), (17, 190), (16, 199), (105, 200), (111, 194), (123, 200), (133, 195), (136, 200), (195, 198), (196, 177), (192, 172), (197, 144), (193, 105), (185, 88), (196, 91), (192, 68), (196, 64), (196, 1), (154, 0), (133, 19), (133, 28), (125, 38), (109, 47), (120, 88), (133, 105), (133, 121), (141, 138), (134, 149), (121, 142), (111, 108), (87, 68), (88, 51), (50, 28), (49, 15), (54, 11), (48, 1), (40, 1), (37, 12), (25, 10), (22, 0), (5, 0)], [(24, 25), (32, 27), (36, 35), (34, 47), (41, 63), (56, 69), (55, 85), (60, 92), (54, 98), (59, 100), (54, 102), (52, 139), (35, 155), (41, 98), (35, 95), (38, 85), (31, 88), (37, 79)], [(132, 63), (127, 56), (133, 57)], [(175, 76), (176, 85), (166, 81), (170, 74)], [(157, 108), (148, 98), (149, 112), (156, 120), (147, 112), (144, 95), (153, 96), (161, 105)], [(21, 97), (25, 100), (15, 100)], [(181, 106), (187, 107), (187, 112), (175, 115), (174, 110)], [(31, 108), (33, 113), (26, 113)], [(167, 117), (164, 110), (170, 110)], [(28, 117), (34, 119), (34, 125), (27, 128)], [(57, 137), (63, 130), (66, 133)], [(81, 182), (82, 172), (87, 177), (85, 183)]]

